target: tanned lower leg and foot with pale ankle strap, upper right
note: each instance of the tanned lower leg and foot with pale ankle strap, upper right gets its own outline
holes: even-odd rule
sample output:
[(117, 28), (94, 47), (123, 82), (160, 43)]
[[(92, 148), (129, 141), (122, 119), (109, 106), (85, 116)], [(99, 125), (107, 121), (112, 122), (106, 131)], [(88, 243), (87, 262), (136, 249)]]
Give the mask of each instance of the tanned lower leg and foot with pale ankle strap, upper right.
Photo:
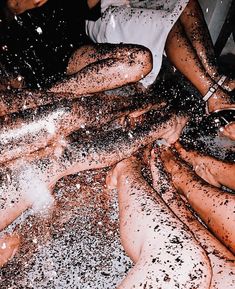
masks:
[[(235, 139), (235, 104), (231, 97), (222, 90), (206, 72), (199, 57), (187, 37), (180, 22), (176, 22), (166, 41), (166, 53), (174, 66), (184, 74), (198, 89), (206, 102), (206, 112), (217, 112), (217, 118), (226, 120), (221, 127), (221, 134)], [(231, 117), (225, 115), (230, 111)], [(221, 114), (224, 114), (221, 116)]]

